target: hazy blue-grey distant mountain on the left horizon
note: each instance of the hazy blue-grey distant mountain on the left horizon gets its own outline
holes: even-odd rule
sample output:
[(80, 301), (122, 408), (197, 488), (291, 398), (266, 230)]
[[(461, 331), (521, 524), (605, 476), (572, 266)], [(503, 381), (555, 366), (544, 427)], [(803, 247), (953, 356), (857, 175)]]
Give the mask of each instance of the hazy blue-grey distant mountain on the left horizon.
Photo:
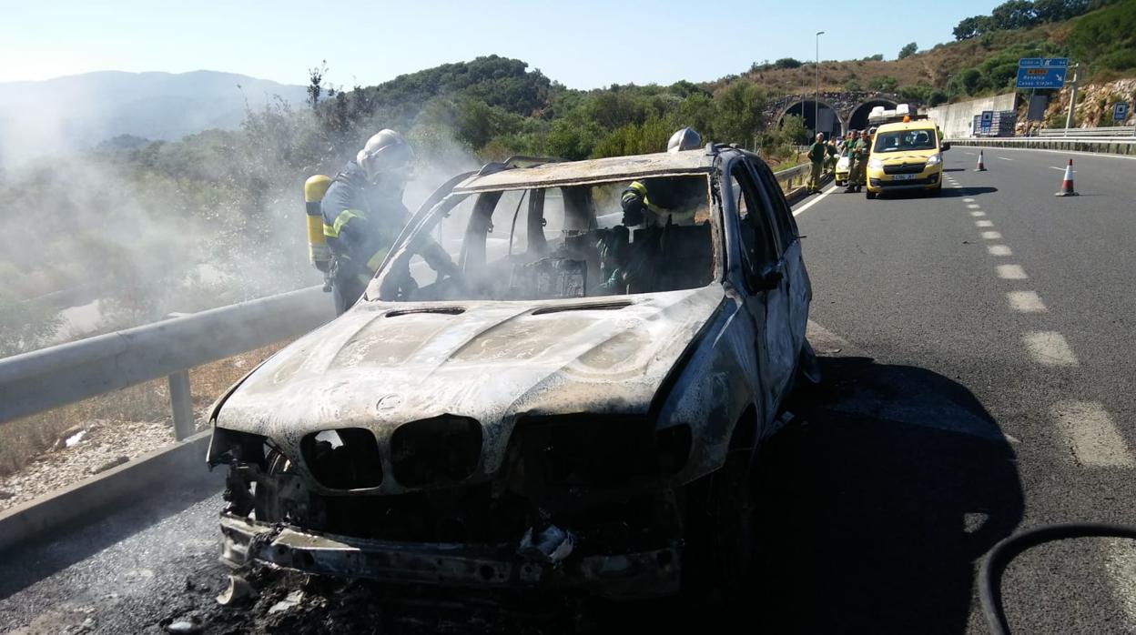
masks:
[(244, 109), (279, 95), (302, 103), (304, 86), (234, 73), (106, 70), (43, 82), (0, 83), (0, 167), (131, 135), (175, 140), (234, 128)]

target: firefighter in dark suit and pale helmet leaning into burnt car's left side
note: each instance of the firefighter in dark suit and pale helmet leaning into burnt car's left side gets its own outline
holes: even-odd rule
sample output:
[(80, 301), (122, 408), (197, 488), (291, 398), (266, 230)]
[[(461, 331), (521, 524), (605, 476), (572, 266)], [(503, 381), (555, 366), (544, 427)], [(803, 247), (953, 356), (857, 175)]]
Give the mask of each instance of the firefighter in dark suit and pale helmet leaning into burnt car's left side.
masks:
[[(412, 160), (414, 151), (399, 133), (379, 131), (335, 176), (323, 197), (320, 211), (333, 257), (331, 282), (336, 315), (362, 295), (410, 220), (402, 192)], [(457, 275), (457, 266), (441, 245), (428, 245), (421, 256), (440, 276)]]

